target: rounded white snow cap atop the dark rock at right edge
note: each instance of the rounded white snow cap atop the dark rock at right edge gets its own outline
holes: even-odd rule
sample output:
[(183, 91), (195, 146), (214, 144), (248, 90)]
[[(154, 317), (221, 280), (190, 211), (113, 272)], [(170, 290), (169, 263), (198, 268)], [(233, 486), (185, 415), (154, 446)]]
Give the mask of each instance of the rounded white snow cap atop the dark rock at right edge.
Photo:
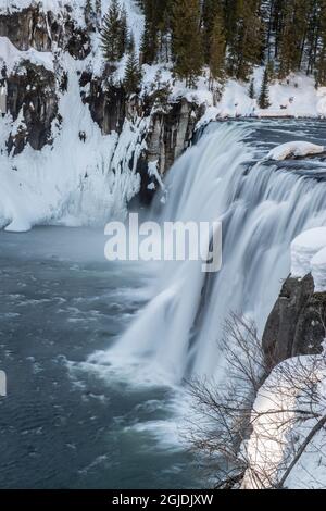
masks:
[(326, 247), (326, 227), (305, 230), (291, 245), (291, 274), (304, 277), (312, 271), (312, 259)]

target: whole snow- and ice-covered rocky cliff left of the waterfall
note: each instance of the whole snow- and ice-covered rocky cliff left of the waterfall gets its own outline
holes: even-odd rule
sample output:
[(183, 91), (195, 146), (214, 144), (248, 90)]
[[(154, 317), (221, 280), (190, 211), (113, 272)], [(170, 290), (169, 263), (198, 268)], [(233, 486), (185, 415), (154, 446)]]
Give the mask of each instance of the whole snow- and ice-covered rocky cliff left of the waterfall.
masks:
[[(89, 5), (100, 9), (100, 2), (80, 0), (53, 10), (46, 9), (51, 3), (25, 3), (26, 8), (0, 10), (0, 152), (10, 188), (7, 192), (10, 201), (0, 200), (0, 226), (11, 224), (16, 216), (22, 217), (26, 209), (30, 217), (26, 228), (51, 219), (54, 209), (59, 210), (54, 215), (58, 219), (67, 210), (68, 216), (82, 216), (67, 203), (71, 196), (66, 192), (82, 202), (77, 199), (77, 187), (85, 197), (86, 189), (91, 188), (86, 198), (88, 203), (95, 199), (98, 202), (100, 189), (102, 194), (106, 190), (105, 197), (101, 197), (102, 210), (105, 209), (101, 220), (123, 214), (135, 196), (142, 202), (150, 202), (162, 185), (162, 176), (191, 142), (204, 105), (192, 98), (171, 96), (166, 84), (147, 83), (139, 95), (128, 96), (122, 80), (123, 63), (112, 67), (103, 61), (100, 49), (103, 12), (89, 10)], [(133, 12), (129, 21), (139, 24), (139, 17)], [(75, 161), (70, 161), (71, 154), (64, 159), (64, 145), (76, 158), (80, 153), (78, 169)], [(35, 151), (35, 158), (30, 150)], [(52, 151), (51, 158), (49, 151)], [(36, 169), (37, 162), (40, 169)], [(66, 166), (65, 176), (62, 175), (64, 197), (59, 204), (52, 199), (48, 203), (51, 190), (47, 187), (41, 190), (41, 195), (47, 196), (46, 204), (38, 214), (25, 204), (23, 213), (17, 212), (21, 207), (10, 205), (16, 202), (22, 187), (28, 189), (26, 194), (30, 187), (39, 188), (43, 180), (40, 175), (45, 174), (48, 179), (54, 166), (63, 165)], [(35, 175), (30, 171), (28, 174), (25, 166), (35, 167)], [(66, 173), (72, 166), (76, 166), (78, 176), (67, 184)], [(21, 173), (20, 177), (13, 177), (13, 170)], [(101, 184), (100, 172), (104, 172)], [(57, 177), (53, 175), (54, 180)], [(97, 184), (89, 185), (89, 180), (97, 180)], [(60, 182), (52, 185), (61, 188)], [(73, 189), (67, 190), (67, 187)], [(40, 190), (37, 192), (39, 195)], [(24, 202), (27, 201), (35, 202), (34, 195)], [(96, 214), (95, 208), (90, 208), (91, 211), (82, 208), (87, 223)], [(23, 224), (25, 228), (25, 222)]]

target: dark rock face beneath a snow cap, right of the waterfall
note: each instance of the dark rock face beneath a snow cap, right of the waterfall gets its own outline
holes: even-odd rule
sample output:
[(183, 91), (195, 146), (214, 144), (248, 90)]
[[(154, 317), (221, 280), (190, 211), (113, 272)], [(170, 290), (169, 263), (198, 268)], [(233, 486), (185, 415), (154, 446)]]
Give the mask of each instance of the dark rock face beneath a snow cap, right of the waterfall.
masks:
[(300, 354), (323, 351), (326, 337), (326, 294), (314, 292), (311, 275), (289, 277), (268, 317), (263, 349), (269, 369)]

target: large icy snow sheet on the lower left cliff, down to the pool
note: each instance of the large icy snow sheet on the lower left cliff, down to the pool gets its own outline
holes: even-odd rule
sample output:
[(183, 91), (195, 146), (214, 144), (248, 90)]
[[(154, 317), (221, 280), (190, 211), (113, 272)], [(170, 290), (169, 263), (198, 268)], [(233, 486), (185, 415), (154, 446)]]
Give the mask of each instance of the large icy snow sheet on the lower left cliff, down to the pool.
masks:
[(127, 202), (139, 190), (139, 176), (127, 163), (145, 121), (136, 126), (126, 122), (120, 138), (115, 133), (103, 136), (80, 99), (79, 63), (66, 54), (62, 63), (68, 71), (68, 90), (60, 97), (63, 122), (53, 123), (52, 147), (35, 151), (27, 145), (21, 154), (8, 157), (5, 140), (23, 119), (14, 125), (9, 115), (0, 119), (0, 228), (16, 232), (36, 224), (76, 226), (124, 219)]

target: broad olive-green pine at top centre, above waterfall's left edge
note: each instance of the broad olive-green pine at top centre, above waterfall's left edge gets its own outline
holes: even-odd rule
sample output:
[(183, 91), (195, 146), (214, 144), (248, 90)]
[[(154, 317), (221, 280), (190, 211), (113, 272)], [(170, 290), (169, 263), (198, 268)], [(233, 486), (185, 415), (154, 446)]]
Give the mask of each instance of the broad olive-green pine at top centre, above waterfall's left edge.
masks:
[(199, 0), (175, 0), (173, 9), (174, 72), (192, 87), (202, 71)]

